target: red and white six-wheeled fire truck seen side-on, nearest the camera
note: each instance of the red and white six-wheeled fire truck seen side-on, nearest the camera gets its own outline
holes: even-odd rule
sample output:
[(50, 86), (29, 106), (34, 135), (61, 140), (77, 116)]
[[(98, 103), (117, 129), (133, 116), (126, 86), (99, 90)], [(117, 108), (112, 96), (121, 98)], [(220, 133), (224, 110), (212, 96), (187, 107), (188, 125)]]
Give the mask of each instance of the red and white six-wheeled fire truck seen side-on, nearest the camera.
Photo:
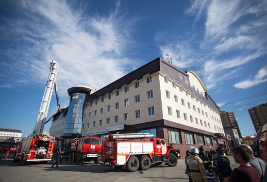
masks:
[(161, 138), (150, 133), (110, 134), (105, 137), (102, 149), (102, 165), (108, 163), (117, 169), (130, 172), (147, 170), (151, 163), (176, 166), (180, 150), (166, 145)]

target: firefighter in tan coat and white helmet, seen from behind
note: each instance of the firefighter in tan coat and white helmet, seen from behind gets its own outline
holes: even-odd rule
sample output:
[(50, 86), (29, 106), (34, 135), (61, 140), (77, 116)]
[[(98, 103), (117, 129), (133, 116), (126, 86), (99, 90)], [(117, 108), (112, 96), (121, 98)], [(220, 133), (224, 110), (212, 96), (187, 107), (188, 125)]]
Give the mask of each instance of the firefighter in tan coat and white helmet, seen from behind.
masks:
[(203, 164), (203, 161), (200, 159), (199, 149), (193, 148), (191, 150), (190, 156), (186, 158), (185, 163), (189, 166), (191, 171), (191, 178), (193, 182), (208, 182), (208, 176)]

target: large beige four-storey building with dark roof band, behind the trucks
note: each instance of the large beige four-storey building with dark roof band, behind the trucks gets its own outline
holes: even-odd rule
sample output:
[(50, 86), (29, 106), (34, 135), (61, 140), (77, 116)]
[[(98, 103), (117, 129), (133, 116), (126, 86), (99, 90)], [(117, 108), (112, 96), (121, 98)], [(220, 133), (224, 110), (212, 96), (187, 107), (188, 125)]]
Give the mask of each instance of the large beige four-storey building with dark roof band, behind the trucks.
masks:
[(223, 143), (219, 112), (194, 71), (157, 58), (86, 95), (82, 135), (149, 132), (174, 143), (184, 158), (190, 145), (209, 150)]

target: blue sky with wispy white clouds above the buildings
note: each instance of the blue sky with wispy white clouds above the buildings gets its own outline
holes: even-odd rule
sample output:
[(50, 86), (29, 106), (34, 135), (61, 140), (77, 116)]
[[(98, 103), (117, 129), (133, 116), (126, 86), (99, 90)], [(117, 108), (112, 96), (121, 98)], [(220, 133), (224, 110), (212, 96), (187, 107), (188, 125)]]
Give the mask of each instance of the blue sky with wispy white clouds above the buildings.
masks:
[[(0, 0), (0, 128), (32, 132), (51, 59), (64, 108), (68, 88), (100, 89), (166, 53), (243, 136), (256, 133), (248, 109), (267, 102), (267, 0)], [(53, 94), (48, 118), (56, 111)]]

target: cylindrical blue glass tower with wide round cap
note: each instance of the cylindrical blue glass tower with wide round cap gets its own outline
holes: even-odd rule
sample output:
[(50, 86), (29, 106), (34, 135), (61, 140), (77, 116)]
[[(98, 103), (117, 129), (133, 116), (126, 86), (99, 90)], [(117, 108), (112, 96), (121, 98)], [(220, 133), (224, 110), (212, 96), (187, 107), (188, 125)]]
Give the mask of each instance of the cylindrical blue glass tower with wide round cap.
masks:
[(87, 93), (90, 94), (90, 87), (74, 86), (67, 90), (70, 96), (67, 118), (62, 137), (81, 136), (82, 118), (83, 118), (83, 102)]

